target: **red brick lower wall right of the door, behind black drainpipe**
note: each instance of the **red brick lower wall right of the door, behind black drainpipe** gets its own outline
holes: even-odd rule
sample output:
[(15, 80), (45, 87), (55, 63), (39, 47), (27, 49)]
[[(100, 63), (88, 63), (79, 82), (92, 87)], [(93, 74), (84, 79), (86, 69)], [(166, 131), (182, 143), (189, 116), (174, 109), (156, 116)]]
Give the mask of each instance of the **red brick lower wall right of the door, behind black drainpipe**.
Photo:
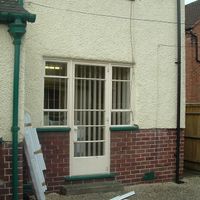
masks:
[[(183, 173), (181, 135), (180, 173)], [(125, 184), (143, 183), (146, 172), (154, 171), (156, 182), (175, 178), (176, 131), (150, 129), (139, 132), (111, 133), (111, 171)]]

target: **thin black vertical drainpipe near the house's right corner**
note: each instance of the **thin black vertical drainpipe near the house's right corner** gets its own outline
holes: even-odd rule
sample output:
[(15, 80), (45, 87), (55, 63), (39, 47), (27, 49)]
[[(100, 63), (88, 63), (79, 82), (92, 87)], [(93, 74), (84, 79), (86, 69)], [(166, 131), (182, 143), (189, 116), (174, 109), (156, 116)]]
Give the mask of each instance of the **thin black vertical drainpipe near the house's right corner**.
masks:
[(180, 118), (181, 118), (181, 1), (177, 0), (177, 120), (176, 120), (176, 183), (180, 184)]

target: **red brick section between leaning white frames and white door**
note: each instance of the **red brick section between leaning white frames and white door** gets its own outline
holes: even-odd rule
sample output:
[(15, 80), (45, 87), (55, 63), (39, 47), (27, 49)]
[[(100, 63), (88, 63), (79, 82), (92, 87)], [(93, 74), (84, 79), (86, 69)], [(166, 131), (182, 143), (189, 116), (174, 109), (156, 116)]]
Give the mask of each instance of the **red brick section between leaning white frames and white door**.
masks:
[(39, 140), (47, 170), (45, 180), (48, 191), (58, 192), (69, 175), (69, 133), (39, 133)]

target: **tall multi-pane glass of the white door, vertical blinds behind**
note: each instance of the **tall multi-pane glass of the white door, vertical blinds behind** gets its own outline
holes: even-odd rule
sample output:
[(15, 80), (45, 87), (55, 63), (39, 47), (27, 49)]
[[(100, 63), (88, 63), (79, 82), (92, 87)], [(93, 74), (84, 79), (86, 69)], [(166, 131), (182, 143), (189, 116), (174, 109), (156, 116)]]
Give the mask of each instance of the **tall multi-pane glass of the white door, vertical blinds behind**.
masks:
[(102, 156), (105, 146), (105, 68), (75, 66), (74, 156)]

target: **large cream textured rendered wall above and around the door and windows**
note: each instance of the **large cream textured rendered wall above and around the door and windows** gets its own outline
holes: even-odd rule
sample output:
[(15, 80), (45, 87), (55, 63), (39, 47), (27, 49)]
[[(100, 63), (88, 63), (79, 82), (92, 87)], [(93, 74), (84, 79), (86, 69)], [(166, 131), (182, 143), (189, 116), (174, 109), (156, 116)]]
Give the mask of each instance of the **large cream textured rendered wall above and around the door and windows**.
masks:
[[(175, 0), (25, 1), (26, 9), (37, 15), (25, 39), (26, 108), (33, 126), (42, 126), (44, 57), (132, 62), (131, 4), (134, 123), (140, 128), (176, 127)], [(183, 2), (182, 7), (184, 15)], [(184, 89), (182, 93), (184, 127)]]

